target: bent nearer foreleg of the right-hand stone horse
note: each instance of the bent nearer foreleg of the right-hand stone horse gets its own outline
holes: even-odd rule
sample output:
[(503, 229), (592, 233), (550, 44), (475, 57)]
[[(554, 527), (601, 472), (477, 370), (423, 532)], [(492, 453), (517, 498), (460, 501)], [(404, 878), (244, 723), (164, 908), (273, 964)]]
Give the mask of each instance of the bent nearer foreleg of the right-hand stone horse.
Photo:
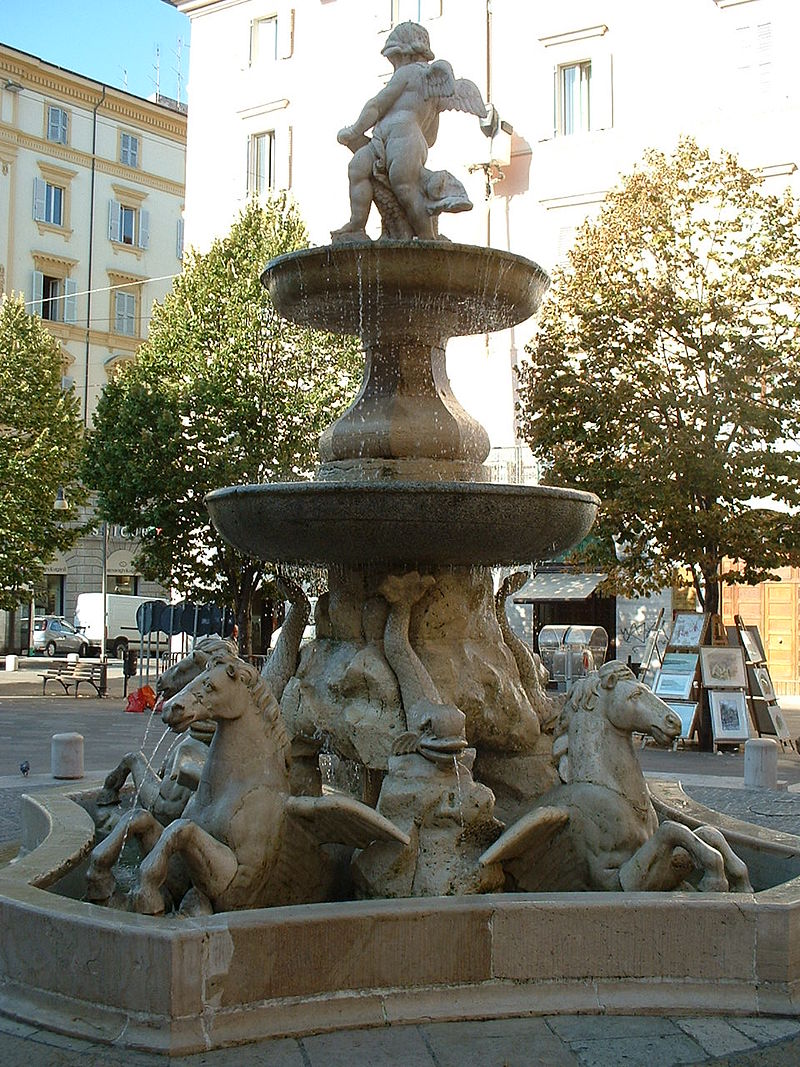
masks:
[[(688, 860), (688, 862), (687, 862)], [(692, 870), (703, 877), (701, 892), (727, 890), (721, 854), (681, 823), (660, 823), (649, 841), (620, 867), (620, 885), (625, 892), (636, 890), (670, 891), (676, 889)]]

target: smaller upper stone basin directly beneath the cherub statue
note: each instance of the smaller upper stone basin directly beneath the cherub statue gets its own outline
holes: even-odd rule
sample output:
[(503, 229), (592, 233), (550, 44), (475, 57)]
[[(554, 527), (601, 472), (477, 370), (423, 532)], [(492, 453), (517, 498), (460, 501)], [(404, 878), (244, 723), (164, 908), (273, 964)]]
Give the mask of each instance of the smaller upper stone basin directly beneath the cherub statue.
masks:
[(511, 252), (414, 240), (289, 252), (261, 282), (292, 322), (374, 340), (506, 330), (533, 315), (549, 277)]

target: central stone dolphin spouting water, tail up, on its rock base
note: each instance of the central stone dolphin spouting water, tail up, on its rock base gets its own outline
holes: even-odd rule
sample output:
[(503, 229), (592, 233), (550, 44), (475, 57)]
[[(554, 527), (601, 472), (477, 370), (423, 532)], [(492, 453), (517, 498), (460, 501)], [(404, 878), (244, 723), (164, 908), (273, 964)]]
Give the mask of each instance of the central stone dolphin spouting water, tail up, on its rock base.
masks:
[(499, 863), (479, 862), (502, 824), (494, 817), (491, 790), (473, 779), (475, 750), (466, 747), (466, 717), (443, 702), (409, 640), (412, 607), (434, 580), (411, 572), (389, 576), (381, 586), (389, 604), (384, 649), (409, 729), (395, 742), (378, 811), (410, 843), (373, 842), (356, 855), (353, 880), (364, 896), (443, 896), (502, 888)]

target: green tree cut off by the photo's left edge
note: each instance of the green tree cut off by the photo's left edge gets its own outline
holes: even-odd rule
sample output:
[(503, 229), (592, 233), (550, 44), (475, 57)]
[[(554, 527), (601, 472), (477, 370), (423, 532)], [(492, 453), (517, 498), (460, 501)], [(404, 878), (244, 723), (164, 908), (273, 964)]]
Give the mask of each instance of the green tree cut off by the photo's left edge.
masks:
[[(83, 528), (78, 474), (83, 424), (78, 400), (61, 388), (58, 341), (21, 298), (0, 300), (0, 608), (31, 598), (55, 552)], [(54, 511), (59, 489), (69, 504)]]

